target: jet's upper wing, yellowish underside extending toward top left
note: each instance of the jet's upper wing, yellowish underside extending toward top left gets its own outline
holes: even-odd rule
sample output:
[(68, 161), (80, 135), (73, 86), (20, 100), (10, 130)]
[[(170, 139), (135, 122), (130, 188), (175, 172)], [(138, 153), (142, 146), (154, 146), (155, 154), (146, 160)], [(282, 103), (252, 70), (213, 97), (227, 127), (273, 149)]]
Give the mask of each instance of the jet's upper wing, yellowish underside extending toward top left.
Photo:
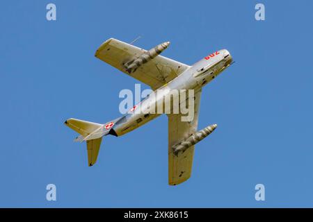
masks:
[(129, 71), (127, 65), (131, 62), (138, 62), (141, 57), (142, 60), (147, 58), (147, 56), (143, 56), (144, 53), (147, 53), (145, 49), (111, 38), (97, 49), (95, 57), (149, 85), (152, 89), (168, 83), (189, 67), (170, 58), (156, 56), (145, 64), (138, 65), (134, 71)]

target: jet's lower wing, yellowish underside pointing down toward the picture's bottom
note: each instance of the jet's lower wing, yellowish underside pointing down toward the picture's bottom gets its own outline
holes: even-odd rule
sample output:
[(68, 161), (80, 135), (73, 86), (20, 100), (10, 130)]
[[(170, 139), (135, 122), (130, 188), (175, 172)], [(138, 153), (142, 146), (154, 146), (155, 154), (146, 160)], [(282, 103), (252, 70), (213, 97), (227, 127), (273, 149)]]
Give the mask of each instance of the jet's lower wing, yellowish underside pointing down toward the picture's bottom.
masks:
[(176, 153), (173, 146), (190, 137), (198, 128), (201, 91), (195, 93), (193, 121), (182, 121), (182, 114), (168, 114), (168, 183), (178, 185), (191, 177), (195, 146)]

